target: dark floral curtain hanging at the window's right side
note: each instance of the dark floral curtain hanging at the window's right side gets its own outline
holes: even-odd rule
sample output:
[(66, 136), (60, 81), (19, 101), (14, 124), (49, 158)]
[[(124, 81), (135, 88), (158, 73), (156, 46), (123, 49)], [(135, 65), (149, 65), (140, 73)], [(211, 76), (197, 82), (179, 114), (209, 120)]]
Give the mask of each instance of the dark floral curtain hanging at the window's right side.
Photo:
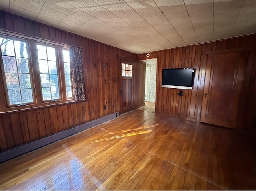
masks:
[(83, 50), (69, 46), (71, 88), (74, 100), (85, 100)]

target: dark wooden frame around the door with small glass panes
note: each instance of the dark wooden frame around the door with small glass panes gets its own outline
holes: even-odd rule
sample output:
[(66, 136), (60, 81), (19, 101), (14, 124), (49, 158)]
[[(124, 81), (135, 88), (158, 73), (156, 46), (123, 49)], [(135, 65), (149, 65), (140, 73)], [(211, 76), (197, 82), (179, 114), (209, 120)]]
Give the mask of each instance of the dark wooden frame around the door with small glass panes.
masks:
[(128, 57), (124, 57), (124, 56), (120, 56), (120, 55), (117, 55), (117, 58), (118, 58), (118, 110), (119, 110), (120, 114), (123, 114), (122, 105), (121, 105), (122, 96), (120, 95), (120, 88), (122, 88), (122, 67), (121, 67), (122, 62), (121, 62), (121, 60), (125, 60), (128, 62), (134, 63), (133, 64), (133, 73), (132, 73), (132, 106), (133, 106), (133, 109), (134, 109), (134, 73), (135, 73), (136, 61), (131, 60)]

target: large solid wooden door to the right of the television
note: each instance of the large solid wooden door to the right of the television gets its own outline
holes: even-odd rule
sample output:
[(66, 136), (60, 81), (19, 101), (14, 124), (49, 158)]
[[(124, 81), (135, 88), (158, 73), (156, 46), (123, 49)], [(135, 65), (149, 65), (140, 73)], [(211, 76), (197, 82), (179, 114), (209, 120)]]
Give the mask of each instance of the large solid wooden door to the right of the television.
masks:
[(235, 128), (247, 53), (208, 55), (201, 122)]

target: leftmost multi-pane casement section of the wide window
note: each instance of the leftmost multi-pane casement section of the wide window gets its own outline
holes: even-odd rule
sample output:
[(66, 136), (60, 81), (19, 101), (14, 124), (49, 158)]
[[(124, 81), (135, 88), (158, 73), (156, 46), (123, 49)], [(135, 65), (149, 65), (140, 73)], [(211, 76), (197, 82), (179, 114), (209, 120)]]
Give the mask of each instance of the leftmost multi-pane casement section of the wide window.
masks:
[(2, 37), (0, 41), (8, 105), (34, 102), (26, 41)]

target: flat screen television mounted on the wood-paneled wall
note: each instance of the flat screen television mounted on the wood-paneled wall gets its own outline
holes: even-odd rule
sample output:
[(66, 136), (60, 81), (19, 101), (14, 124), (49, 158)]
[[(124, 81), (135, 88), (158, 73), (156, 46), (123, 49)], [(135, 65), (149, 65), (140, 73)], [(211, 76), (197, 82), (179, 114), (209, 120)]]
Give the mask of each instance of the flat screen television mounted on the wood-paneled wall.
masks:
[(194, 77), (194, 68), (164, 68), (162, 75), (162, 87), (192, 89)]

